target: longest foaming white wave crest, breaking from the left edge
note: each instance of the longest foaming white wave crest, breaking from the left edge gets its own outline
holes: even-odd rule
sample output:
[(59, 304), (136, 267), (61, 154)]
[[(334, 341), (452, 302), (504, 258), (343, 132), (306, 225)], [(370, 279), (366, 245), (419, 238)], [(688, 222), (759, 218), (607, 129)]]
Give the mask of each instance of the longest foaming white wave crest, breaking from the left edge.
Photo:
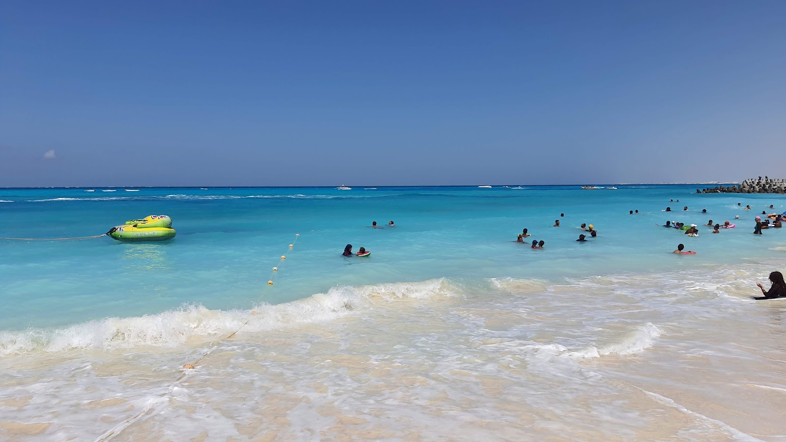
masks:
[[(338, 286), (285, 304), (260, 304), (248, 310), (209, 310), (188, 305), (158, 315), (107, 318), (59, 330), (0, 332), (0, 356), (26, 352), (63, 352), (72, 348), (174, 347), (192, 337), (278, 330), (298, 324), (329, 321), (357, 311), (379, 308), (397, 300), (453, 296), (445, 279), (424, 282)], [(248, 324), (244, 325), (246, 322)]]

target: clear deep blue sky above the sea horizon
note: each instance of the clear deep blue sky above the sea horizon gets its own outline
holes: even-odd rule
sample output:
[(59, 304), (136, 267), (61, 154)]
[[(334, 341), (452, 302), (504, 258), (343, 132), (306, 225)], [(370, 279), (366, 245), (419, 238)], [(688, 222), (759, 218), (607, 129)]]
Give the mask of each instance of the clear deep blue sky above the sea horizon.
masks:
[(0, 4), (0, 186), (784, 169), (782, 0)]

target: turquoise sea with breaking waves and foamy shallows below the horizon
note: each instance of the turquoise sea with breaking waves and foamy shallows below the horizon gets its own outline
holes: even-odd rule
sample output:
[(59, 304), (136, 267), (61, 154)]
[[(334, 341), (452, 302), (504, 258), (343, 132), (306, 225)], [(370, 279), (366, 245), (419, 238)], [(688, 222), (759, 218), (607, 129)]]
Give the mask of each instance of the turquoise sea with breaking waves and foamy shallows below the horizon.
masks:
[(178, 235), (0, 240), (0, 439), (786, 440), (786, 197), (617, 187), (2, 189), (0, 237)]

